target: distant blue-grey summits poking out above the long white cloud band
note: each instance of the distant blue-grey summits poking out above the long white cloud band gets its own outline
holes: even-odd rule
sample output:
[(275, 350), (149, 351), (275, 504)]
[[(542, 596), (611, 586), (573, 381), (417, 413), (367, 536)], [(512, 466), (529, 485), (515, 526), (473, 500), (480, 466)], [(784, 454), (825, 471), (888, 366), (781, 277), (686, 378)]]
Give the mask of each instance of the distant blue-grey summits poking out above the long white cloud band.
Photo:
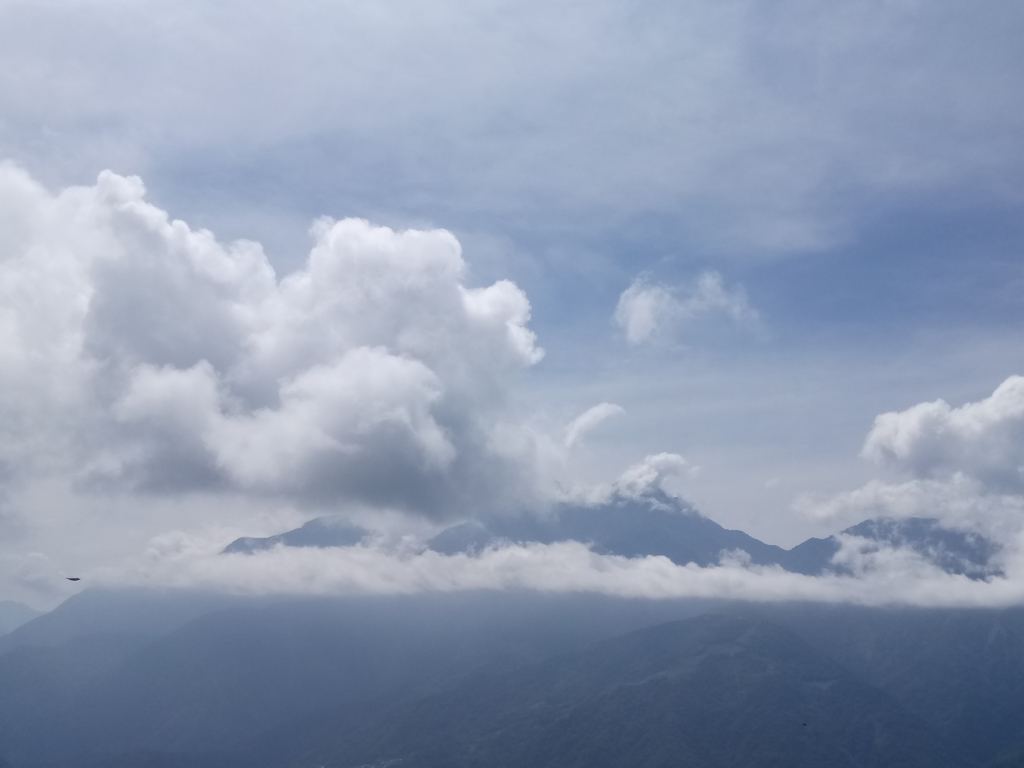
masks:
[[(285, 547), (350, 547), (371, 531), (340, 518), (317, 517), (294, 530), (266, 538), (242, 538), (225, 553), (252, 554)], [(705, 517), (685, 501), (664, 490), (640, 496), (616, 494), (600, 505), (561, 504), (550, 514), (476, 519), (453, 525), (427, 542), (445, 555), (476, 554), (509, 544), (581, 542), (602, 555), (646, 557), (659, 555), (674, 563), (717, 565), (730, 555), (757, 565), (778, 565), (806, 575), (849, 573), (836, 555), (845, 540), (857, 537), (866, 548), (909, 549), (949, 573), (984, 579), (998, 572), (993, 557), (999, 547), (978, 536), (942, 526), (932, 518), (865, 520), (827, 539), (808, 539), (786, 550), (765, 544), (741, 530), (732, 530)], [(863, 548), (863, 547), (862, 547)]]

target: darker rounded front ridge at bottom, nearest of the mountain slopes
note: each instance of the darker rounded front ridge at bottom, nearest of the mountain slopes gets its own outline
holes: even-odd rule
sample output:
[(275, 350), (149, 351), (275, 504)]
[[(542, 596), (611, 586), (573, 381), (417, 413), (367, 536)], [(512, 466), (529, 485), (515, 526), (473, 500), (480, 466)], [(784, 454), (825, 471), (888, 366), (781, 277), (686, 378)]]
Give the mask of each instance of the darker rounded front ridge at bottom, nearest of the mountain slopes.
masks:
[[(807, 725), (804, 725), (807, 723)], [(794, 633), (700, 616), (479, 675), (295, 765), (954, 766), (938, 736)]]

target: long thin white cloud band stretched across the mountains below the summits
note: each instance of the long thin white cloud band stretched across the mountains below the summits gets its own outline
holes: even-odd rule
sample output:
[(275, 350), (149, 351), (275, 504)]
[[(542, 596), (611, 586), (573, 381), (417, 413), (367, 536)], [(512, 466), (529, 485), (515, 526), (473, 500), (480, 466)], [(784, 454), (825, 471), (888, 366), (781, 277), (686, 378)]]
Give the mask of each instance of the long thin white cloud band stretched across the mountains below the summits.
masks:
[[(222, 545), (222, 543), (218, 543)], [(95, 568), (90, 583), (209, 588), (242, 594), (414, 594), (463, 590), (596, 592), (620, 597), (839, 601), (866, 605), (1009, 605), (1024, 600), (1024, 568), (972, 581), (945, 573), (906, 550), (847, 541), (854, 575), (806, 577), (752, 565), (734, 554), (718, 566), (677, 565), (666, 557), (598, 555), (586, 545), (505, 545), (474, 555), (442, 555), (411, 543), (287, 548), (218, 555), (210, 541), (167, 535), (145, 555)]]

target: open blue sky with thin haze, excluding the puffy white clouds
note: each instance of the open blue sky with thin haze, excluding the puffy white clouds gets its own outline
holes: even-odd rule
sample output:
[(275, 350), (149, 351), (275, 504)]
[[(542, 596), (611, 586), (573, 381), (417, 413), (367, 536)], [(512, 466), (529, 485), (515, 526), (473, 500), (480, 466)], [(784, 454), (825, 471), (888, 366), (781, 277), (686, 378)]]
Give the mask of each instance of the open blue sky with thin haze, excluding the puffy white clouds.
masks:
[[(507, 408), (625, 409), (559, 482), (678, 453), (674, 489), (792, 545), (838, 525), (799, 498), (899, 479), (859, 458), (879, 414), (1021, 373), (1022, 28), (1011, 0), (5, 0), (0, 158), (51, 194), (138, 175), (279, 274), (321, 216), (447, 229), (467, 286), (528, 298), (546, 354)], [(710, 274), (745, 321), (692, 309)], [(631, 343), (638, 279), (670, 308)]]

